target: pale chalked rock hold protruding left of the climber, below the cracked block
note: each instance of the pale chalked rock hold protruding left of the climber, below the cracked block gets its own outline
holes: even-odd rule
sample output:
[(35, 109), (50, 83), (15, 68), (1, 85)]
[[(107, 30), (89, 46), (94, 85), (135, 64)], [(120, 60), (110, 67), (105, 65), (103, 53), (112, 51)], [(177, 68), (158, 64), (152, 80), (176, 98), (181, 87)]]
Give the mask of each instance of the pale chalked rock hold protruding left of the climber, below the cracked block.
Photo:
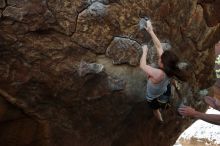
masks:
[(104, 70), (102, 64), (80, 62), (78, 73), (80, 77), (84, 77), (87, 74), (98, 74)]

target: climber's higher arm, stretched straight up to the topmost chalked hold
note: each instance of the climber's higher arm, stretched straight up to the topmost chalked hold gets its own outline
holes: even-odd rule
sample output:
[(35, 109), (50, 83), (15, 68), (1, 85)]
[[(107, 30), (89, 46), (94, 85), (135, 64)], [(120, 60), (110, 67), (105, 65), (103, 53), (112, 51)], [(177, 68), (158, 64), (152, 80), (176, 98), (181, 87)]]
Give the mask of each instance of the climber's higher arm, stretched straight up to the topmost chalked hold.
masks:
[(148, 26), (145, 27), (145, 29), (151, 35), (151, 37), (153, 39), (153, 42), (154, 42), (154, 45), (157, 49), (157, 53), (158, 53), (159, 56), (161, 56), (163, 54), (163, 48), (162, 48), (162, 45), (160, 43), (160, 40), (157, 38), (156, 34), (153, 31), (152, 25), (148, 24)]

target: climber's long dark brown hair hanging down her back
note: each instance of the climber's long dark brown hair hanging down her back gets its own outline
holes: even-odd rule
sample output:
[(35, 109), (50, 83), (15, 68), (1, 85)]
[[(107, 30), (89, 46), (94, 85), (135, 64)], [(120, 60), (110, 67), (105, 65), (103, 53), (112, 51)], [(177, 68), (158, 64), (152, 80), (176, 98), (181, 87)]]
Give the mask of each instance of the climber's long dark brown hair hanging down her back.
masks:
[(161, 62), (163, 63), (163, 70), (168, 77), (176, 77), (181, 81), (186, 81), (186, 75), (178, 67), (179, 58), (171, 51), (164, 51), (161, 55)]

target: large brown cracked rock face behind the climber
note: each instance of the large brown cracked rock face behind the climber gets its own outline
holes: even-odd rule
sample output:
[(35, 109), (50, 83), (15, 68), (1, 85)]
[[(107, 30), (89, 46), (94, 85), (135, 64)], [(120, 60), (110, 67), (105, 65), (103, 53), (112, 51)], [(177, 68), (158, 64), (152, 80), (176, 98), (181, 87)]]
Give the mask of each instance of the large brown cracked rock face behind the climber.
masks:
[(172, 145), (192, 121), (178, 117), (177, 93), (163, 125), (148, 108), (141, 45), (156, 57), (140, 17), (190, 63), (180, 94), (204, 110), (197, 92), (213, 84), (218, 11), (202, 0), (0, 0), (0, 145)]

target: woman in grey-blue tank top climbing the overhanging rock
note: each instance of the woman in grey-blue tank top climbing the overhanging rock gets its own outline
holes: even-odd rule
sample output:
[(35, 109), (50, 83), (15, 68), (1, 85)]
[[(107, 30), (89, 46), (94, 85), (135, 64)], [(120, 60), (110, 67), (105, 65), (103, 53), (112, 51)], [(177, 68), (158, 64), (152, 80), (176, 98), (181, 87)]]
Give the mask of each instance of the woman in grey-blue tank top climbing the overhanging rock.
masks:
[[(148, 20), (149, 21), (149, 20)], [(147, 74), (147, 95), (146, 99), (149, 106), (153, 109), (153, 113), (161, 122), (163, 118), (160, 113), (160, 108), (169, 102), (171, 95), (170, 79), (176, 77), (181, 81), (185, 81), (185, 77), (178, 68), (178, 57), (171, 51), (163, 51), (162, 45), (153, 31), (150, 22), (146, 23), (144, 28), (152, 37), (153, 43), (157, 50), (158, 68), (152, 67), (146, 63), (148, 52), (147, 45), (142, 46), (143, 54), (140, 60), (140, 68)]]

